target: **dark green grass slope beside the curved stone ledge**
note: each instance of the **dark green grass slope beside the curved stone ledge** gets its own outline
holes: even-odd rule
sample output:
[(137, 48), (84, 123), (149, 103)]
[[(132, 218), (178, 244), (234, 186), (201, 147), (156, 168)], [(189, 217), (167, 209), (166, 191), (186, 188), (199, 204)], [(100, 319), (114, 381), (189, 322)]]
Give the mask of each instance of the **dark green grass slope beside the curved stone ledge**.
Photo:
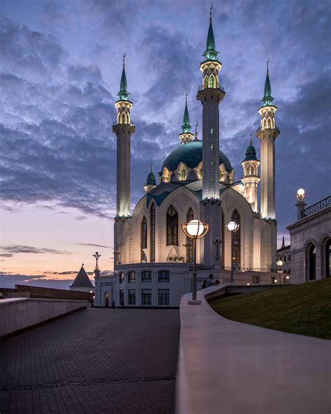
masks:
[(331, 339), (331, 278), (224, 297), (210, 305), (237, 322)]

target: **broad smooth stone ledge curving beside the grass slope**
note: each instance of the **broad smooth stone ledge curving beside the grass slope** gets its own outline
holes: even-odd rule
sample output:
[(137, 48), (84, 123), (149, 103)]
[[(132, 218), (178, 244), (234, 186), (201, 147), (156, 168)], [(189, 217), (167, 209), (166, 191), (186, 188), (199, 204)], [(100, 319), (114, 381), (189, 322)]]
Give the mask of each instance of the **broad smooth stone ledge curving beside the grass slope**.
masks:
[(182, 297), (177, 414), (330, 414), (331, 341), (221, 317), (219, 288)]

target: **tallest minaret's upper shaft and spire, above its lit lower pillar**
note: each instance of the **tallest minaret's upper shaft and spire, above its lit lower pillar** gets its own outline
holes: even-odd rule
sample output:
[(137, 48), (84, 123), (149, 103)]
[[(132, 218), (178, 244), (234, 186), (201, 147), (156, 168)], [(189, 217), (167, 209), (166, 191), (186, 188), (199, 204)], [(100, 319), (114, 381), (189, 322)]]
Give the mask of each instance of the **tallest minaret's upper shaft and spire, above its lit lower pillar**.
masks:
[(196, 97), (203, 104), (203, 199), (219, 199), (219, 103), (226, 93), (219, 85), (222, 64), (217, 54), (211, 6), (205, 60), (200, 64), (203, 87)]

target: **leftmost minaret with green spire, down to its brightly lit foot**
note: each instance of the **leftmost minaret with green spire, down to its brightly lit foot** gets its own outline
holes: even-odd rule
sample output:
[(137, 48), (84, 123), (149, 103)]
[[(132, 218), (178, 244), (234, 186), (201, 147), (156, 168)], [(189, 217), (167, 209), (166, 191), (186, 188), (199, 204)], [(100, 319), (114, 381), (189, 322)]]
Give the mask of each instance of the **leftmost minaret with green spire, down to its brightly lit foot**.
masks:
[(118, 93), (119, 99), (115, 102), (117, 109), (117, 124), (112, 131), (117, 136), (117, 208), (118, 217), (130, 215), (130, 139), (135, 131), (130, 121), (130, 110), (133, 103), (128, 100), (128, 87), (125, 74), (125, 53), (123, 56), (123, 70), (121, 85)]

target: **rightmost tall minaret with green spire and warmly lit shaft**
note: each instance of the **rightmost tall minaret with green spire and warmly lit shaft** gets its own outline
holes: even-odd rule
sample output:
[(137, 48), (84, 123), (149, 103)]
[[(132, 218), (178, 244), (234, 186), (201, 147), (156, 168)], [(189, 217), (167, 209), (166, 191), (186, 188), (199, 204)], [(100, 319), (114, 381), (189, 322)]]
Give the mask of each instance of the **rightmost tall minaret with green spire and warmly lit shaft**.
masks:
[(261, 193), (260, 213), (262, 218), (276, 218), (275, 194), (274, 194), (274, 140), (279, 134), (279, 129), (274, 121), (274, 113), (277, 106), (272, 101), (271, 84), (269, 79), (269, 59), (267, 60), (267, 77), (265, 78), (265, 92), (262, 99), (263, 105), (259, 108), (261, 121), (256, 136), (260, 140), (261, 158)]

